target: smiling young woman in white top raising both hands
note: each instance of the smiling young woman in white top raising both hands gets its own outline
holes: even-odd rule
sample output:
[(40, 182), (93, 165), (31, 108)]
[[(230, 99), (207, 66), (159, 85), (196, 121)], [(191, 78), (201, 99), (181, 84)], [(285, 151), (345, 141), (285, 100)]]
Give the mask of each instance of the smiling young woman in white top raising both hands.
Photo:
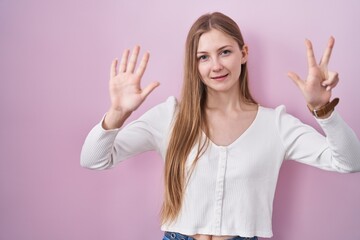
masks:
[(140, 87), (149, 54), (139, 47), (111, 66), (111, 106), (89, 133), (81, 164), (106, 169), (156, 150), (165, 160), (164, 239), (257, 239), (272, 236), (272, 204), (280, 166), (293, 159), (325, 170), (360, 171), (360, 144), (334, 111), (339, 78), (327, 65), (334, 39), (316, 63), (306, 41), (309, 74), (289, 73), (326, 137), (287, 114), (262, 107), (247, 79), (248, 47), (221, 13), (201, 16), (186, 40), (180, 101), (169, 97), (122, 126), (159, 83)]

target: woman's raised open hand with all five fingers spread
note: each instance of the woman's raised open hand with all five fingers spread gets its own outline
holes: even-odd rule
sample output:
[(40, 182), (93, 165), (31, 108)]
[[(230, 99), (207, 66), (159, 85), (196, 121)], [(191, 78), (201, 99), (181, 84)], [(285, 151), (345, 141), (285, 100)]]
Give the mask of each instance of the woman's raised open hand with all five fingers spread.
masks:
[(126, 49), (120, 64), (117, 59), (111, 64), (109, 82), (111, 107), (103, 122), (103, 126), (107, 129), (120, 127), (145, 98), (159, 86), (158, 82), (152, 82), (145, 88), (141, 88), (141, 78), (150, 55), (148, 52), (145, 53), (135, 70), (139, 52), (140, 47), (135, 46), (129, 59), (130, 51)]

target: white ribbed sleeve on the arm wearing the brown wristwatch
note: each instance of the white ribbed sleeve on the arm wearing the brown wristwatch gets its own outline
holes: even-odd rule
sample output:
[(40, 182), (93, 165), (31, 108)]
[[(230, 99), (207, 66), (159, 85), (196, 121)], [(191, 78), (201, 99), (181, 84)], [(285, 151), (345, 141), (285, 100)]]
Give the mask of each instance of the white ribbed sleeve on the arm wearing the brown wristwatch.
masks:
[(278, 107), (276, 115), (286, 159), (329, 171), (360, 171), (360, 142), (336, 111), (327, 119), (317, 119), (325, 137), (286, 114), (285, 107)]

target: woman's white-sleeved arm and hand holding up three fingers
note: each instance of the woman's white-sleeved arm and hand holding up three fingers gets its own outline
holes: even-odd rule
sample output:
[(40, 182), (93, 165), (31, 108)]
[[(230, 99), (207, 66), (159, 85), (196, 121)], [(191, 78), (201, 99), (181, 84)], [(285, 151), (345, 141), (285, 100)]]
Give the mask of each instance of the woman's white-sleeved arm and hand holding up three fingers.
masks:
[[(331, 98), (331, 90), (339, 82), (338, 73), (328, 71), (335, 39), (331, 37), (319, 64), (316, 63), (312, 44), (305, 41), (308, 76), (306, 80), (289, 72), (299, 87), (310, 109), (320, 109)], [(282, 116), (281, 116), (282, 115)], [(286, 158), (339, 172), (360, 171), (360, 143), (353, 130), (337, 112), (317, 118), (325, 132), (323, 137), (313, 128), (297, 119), (280, 113), (279, 129), (287, 149)]]

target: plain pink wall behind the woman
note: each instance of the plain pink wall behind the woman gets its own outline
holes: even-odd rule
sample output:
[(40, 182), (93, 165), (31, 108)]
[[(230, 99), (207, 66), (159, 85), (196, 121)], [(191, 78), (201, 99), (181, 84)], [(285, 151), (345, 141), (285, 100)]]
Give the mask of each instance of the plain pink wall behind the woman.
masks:
[[(80, 167), (85, 136), (107, 110), (110, 62), (140, 44), (144, 84), (161, 86), (131, 116), (178, 96), (184, 41), (205, 12), (236, 20), (250, 48), (251, 88), (315, 126), (286, 73), (306, 75), (328, 37), (340, 73), (338, 111), (360, 135), (358, 0), (1, 0), (0, 239), (161, 239), (163, 162), (146, 153), (110, 171)], [(276, 240), (360, 239), (360, 174), (286, 162), (274, 202)], [(206, 197), (206, 196), (204, 196)]]

